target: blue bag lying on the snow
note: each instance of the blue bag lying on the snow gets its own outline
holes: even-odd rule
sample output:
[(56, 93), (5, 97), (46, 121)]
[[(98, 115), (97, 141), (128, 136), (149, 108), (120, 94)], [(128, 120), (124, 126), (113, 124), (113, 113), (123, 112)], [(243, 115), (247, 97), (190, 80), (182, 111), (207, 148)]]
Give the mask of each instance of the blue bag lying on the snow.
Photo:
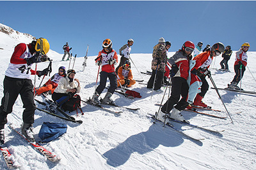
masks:
[(64, 123), (44, 122), (40, 128), (38, 137), (42, 139), (40, 143), (49, 143), (67, 132), (67, 125)]

